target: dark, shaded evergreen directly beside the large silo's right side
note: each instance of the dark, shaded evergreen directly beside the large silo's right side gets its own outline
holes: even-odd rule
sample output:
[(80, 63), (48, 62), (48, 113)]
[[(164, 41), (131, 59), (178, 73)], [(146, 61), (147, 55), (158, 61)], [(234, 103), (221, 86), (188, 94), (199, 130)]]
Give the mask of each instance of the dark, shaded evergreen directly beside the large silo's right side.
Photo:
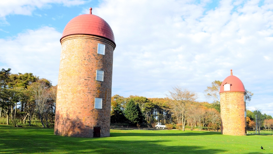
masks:
[(124, 123), (127, 121), (127, 119), (124, 116), (124, 113), (122, 112), (121, 106), (119, 104), (113, 107), (110, 121), (111, 123)]

